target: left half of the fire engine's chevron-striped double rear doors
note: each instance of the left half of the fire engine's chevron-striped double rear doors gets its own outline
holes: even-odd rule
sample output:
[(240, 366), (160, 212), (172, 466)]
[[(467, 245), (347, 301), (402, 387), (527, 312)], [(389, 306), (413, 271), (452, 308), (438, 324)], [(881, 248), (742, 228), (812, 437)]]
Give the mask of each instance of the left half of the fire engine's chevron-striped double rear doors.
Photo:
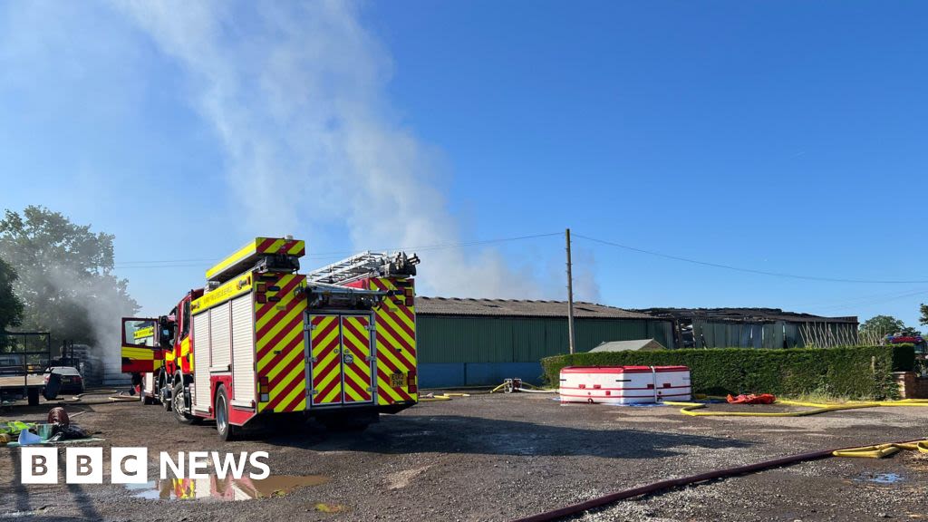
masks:
[(342, 402), (342, 328), (339, 316), (310, 316), (313, 404)]

